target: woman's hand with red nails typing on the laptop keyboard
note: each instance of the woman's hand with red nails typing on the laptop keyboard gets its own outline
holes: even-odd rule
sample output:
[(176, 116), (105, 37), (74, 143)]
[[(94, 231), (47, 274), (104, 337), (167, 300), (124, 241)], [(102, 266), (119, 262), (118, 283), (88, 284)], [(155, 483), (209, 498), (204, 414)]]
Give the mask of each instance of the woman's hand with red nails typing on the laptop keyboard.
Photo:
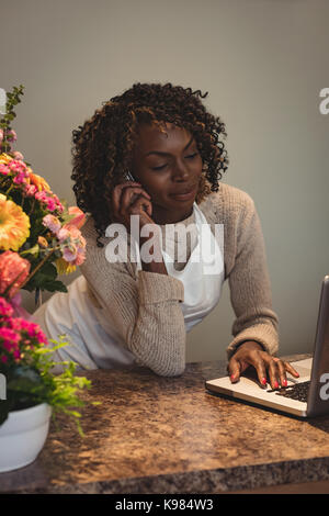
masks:
[(230, 381), (236, 383), (249, 366), (256, 369), (261, 385), (266, 385), (269, 377), (272, 389), (287, 385), (286, 372), (295, 378), (299, 377), (298, 372), (288, 362), (272, 357), (263, 350), (260, 344), (253, 340), (241, 344), (230, 358), (227, 366)]

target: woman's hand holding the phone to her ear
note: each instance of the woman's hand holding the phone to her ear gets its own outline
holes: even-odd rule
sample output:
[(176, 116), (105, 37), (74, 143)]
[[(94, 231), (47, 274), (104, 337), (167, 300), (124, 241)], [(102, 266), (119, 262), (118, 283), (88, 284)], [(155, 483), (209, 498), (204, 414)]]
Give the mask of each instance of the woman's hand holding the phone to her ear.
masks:
[(139, 229), (146, 224), (155, 224), (151, 218), (150, 195), (136, 181), (125, 181), (114, 188), (112, 213), (115, 222), (124, 224), (128, 232), (131, 232), (131, 215), (139, 215)]

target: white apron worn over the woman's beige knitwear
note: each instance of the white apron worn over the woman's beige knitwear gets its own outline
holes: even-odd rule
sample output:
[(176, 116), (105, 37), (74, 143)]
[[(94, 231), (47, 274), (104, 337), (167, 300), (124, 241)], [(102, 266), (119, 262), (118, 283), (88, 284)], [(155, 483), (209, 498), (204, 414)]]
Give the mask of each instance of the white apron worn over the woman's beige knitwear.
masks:
[[(185, 329), (198, 324), (217, 305), (224, 282), (223, 246), (217, 242), (209, 224), (196, 203), (193, 205), (197, 243), (183, 270), (175, 270), (173, 259), (161, 248), (168, 274), (184, 285), (184, 301), (180, 303)], [(220, 248), (222, 247), (222, 248)], [(139, 247), (135, 242), (137, 270), (141, 270)], [(34, 314), (48, 338), (58, 339), (66, 334), (71, 346), (57, 351), (60, 360), (73, 360), (84, 369), (111, 369), (135, 361), (122, 337), (111, 324), (111, 313), (97, 307), (89, 295), (83, 276), (57, 292)]]

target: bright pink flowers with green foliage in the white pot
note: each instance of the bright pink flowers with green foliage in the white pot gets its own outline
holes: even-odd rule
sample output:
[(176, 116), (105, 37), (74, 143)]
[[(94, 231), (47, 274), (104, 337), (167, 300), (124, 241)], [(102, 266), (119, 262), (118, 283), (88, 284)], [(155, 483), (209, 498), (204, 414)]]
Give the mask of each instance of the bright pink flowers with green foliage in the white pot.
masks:
[[(56, 341), (54, 340), (54, 344)], [(39, 403), (57, 412), (72, 416), (80, 435), (83, 435), (80, 416), (76, 410), (83, 406), (79, 392), (90, 388), (84, 377), (76, 377), (73, 362), (55, 362), (53, 352), (66, 346), (61, 340), (53, 348), (39, 326), (23, 317), (14, 316), (14, 309), (0, 296), (0, 372), (7, 379), (7, 399), (0, 402), (0, 425), (11, 411), (27, 408)], [(53, 374), (58, 363), (67, 364), (61, 374)]]

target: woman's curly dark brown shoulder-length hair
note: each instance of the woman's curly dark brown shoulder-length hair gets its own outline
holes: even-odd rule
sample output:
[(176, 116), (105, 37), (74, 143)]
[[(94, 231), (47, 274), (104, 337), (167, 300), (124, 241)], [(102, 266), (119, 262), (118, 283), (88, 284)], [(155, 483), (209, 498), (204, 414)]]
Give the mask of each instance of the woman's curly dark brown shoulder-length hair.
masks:
[(123, 94), (103, 102), (103, 108), (72, 132), (73, 191), (78, 206), (91, 214), (100, 238), (111, 222), (111, 195), (131, 169), (135, 136), (140, 123), (163, 122), (184, 127), (195, 138), (203, 161), (196, 202), (211, 191), (228, 166), (222, 142), (225, 124), (208, 113), (201, 99), (208, 93), (171, 83), (135, 83)]

